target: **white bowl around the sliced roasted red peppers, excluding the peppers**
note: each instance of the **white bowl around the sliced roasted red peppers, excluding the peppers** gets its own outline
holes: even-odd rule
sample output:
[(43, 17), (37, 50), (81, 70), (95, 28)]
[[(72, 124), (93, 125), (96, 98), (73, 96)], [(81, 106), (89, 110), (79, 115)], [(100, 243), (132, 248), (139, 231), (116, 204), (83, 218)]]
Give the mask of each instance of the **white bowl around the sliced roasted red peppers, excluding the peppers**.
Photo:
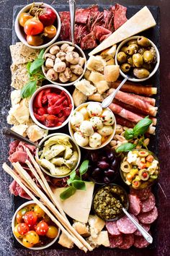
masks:
[(65, 88), (62, 88), (61, 86), (58, 86), (58, 85), (44, 85), (41, 88), (39, 88), (38, 90), (36, 90), (35, 93), (32, 95), (32, 97), (30, 99), (30, 103), (29, 103), (30, 116), (31, 116), (32, 120), (35, 121), (35, 124), (37, 124), (39, 127), (43, 128), (43, 129), (48, 129), (48, 130), (61, 129), (62, 127), (64, 127), (68, 123), (68, 121), (71, 117), (71, 114), (63, 122), (63, 124), (61, 124), (60, 127), (45, 127), (45, 125), (41, 124), (40, 121), (37, 121), (37, 119), (35, 118), (34, 111), (33, 111), (33, 102), (34, 102), (35, 96), (37, 95), (37, 93), (40, 92), (40, 90), (44, 90), (44, 89), (47, 89), (47, 88), (55, 88), (55, 89), (59, 89), (61, 91), (64, 90), (71, 99), (71, 105), (73, 106), (72, 110), (71, 110), (71, 114), (73, 113), (73, 108), (74, 108), (73, 98), (72, 98), (71, 94), (68, 93), (68, 90), (66, 90)]

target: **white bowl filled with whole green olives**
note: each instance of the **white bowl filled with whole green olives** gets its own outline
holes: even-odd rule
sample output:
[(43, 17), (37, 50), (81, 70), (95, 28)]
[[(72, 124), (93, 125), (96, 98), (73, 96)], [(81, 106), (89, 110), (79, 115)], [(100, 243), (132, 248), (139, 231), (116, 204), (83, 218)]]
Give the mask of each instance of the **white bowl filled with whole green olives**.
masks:
[(156, 73), (160, 56), (156, 45), (142, 35), (127, 38), (117, 47), (115, 64), (120, 65), (122, 77), (141, 82), (148, 80)]

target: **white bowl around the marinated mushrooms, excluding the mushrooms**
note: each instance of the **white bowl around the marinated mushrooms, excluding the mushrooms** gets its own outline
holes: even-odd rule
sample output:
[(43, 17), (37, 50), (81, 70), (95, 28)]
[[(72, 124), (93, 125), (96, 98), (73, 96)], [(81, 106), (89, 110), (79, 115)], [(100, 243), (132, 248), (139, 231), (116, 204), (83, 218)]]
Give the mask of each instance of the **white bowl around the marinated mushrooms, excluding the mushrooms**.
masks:
[[(49, 46), (49, 47), (45, 50), (45, 53), (43, 54), (43, 57), (42, 57), (42, 58), (44, 58), (45, 54), (47, 54), (47, 53), (49, 52), (49, 50), (50, 50), (51, 47), (53, 47), (53, 46), (61, 46), (63, 43), (68, 43), (70, 46), (73, 46), (73, 43), (68, 42), (68, 41), (59, 41), (59, 42), (53, 43), (52, 46)], [(45, 73), (45, 66), (44, 66), (44, 64), (43, 64), (43, 65), (42, 65), (42, 72), (43, 72), (43, 74), (45, 75), (46, 79), (47, 79), (48, 81), (50, 81), (51, 83), (53, 83), (54, 85), (61, 85), (61, 86), (73, 85), (74, 82), (81, 80), (81, 78), (84, 76), (84, 73), (85, 73), (85, 71), (86, 71), (86, 55), (84, 54), (84, 51), (82, 51), (79, 46), (74, 45), (74, 47), (76, 48), (76, 51), (78, 52), (78, 54), (79, 54), (81, 57), (83, 57), (83, 58), (85, 59), (85, 63), (84, 63), (84, 72), (79, 76), (79, 78), (78, 78), (77, 80), (75, 80), (75, 81), (73, 81), (73, 82), (65, 82), (65, 83), (63, 83), (63, 82), (55, 82), (55, 81), (52, 81), (52, 80), (49, 80), (49, 79), (48, 79), (48, 77), (46, 76), (46, 73)], [(75, 50), (74, 50), (74, 51), (75, 51)]]

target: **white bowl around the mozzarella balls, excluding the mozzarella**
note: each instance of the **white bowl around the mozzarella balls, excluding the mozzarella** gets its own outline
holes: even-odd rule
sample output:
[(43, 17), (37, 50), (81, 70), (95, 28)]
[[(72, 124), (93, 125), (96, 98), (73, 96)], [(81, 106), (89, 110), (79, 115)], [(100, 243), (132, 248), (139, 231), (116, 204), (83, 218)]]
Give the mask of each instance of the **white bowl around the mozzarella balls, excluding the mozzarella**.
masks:
[[(84, 106), (86, 107), (86, 106), (88, 106), (89, 105), (89, 103), (98, 103), (98, 104), (101, 104), (101, 103), (99, 103), (99, 102), (94, 102), (94, 101), (89, 101), (89, 102), (86, 102), (86, 103), (82, 103), (80, 106), (78, 106), (77, 108), (75, 108), (74, 109), (74, 111), (79, 111), (81, 108), (83, 108)], [(109, 109), (109, 108), (108, 108)], [(110, 110), (110, 109), (109, 109)], [(73, 112), (74, 112), (73, 111)], [(115, 115), (114, 115), (115, 116)], [(87, 147), (82, 147), (82, 146), (80, 146), (81, 148), (85, 148), (86, 150), (98, 150), (99, 148), (104, 148), (106, 145), (108, 145), (109, 144), (109, 142), (112, 140), (112, 138), (115, 136), (115, 132), (116, 132), (116, 119), (115, 119), (115, 122), (114, 122), (114, 124), (112, 125), (112, 127), (113, 127), (113, 132), (112, 132), (112, 135), (109, 135), (108, 136), (108, 138), (107, 138), (107, 140), (104, 142), (104, 143), (102, 143), (102, 145), (100, 146), (100, 147), (98, 147), (98, 148), (91, 148), (90, 146), (87, 146)], [(72, 129), (72, 127), (71, 127), (71, 121), (69, 120), (69, 123), (68, 123), (68, 129), (69, 129), (69, 132), (70, 132), (70, 135), (71, 135), (71, 137), (72, 137), (72, 139), (73, 139), (73, 141), (76, 143), (76, 141), (74, 140), (74, 137), (73, 137), (73, 134), (74, 134), (74, 132), (73, 132), (73, 129)]]

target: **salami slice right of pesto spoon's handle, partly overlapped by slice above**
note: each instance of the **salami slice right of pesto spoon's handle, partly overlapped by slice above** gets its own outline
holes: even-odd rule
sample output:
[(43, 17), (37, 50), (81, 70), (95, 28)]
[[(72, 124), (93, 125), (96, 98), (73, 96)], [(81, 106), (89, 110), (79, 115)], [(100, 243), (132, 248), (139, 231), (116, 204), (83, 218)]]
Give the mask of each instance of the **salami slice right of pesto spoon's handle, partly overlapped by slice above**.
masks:
[(154, 221), (156, 221), (157, 217), (158, 217), (158, 210), (155, 206), (153, 210), (150, 210), (150, 212), (148, 213), (140, 213), (138, 215), (138, 220), (144, 224), (151, 224)]

